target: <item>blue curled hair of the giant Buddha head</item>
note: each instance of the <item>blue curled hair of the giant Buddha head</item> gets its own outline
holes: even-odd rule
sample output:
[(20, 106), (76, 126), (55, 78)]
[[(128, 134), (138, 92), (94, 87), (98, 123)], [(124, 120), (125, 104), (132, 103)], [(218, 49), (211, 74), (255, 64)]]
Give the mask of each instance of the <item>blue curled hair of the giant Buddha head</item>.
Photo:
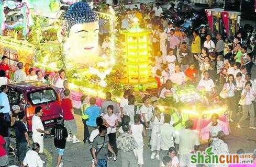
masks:
[(67, 23), (66, 31), (78, 23), (89, 23), (98, 21), (98, 15), (91, 7), (84, 2), (77, 2), (71, 5), (64, 14), (64, 20)]

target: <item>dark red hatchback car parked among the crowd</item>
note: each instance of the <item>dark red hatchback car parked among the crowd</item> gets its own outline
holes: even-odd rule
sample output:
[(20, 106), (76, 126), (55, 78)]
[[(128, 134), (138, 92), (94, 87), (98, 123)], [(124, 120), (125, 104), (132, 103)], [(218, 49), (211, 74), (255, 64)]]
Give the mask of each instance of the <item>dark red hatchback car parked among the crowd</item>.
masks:
[(32, 129), (32, 116), (37, 106), (41, 106), (43, 110), (41, 120), (44, 128), (55, 126), (62, 110), (59, 94), (51, 86), (39, 81), (24, 81), (7, 86), (10, 108), (13, 105), (21, 107), (29, 130)]

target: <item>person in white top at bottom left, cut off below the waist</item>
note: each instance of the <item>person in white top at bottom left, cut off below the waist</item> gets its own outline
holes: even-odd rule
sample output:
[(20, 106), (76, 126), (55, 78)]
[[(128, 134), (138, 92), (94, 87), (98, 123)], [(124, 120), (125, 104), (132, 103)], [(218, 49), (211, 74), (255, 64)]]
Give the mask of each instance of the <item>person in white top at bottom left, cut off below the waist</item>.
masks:
[(32, 150), (29, 150), (26, 153), (26, 157), (23, 161), (23, 165), (29, 167), (43, 167), (44, 162), (38, 156), (38, 152), (40, 150), (40, 145), (37, 142), (32, 144)]

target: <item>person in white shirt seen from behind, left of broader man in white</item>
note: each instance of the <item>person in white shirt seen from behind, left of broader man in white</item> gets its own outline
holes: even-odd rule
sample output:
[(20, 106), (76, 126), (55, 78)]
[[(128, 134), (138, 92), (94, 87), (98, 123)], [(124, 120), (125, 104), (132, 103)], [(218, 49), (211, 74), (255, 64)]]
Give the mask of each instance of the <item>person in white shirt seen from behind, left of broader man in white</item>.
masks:
[(170, 147), (174, 147), (173, 138), (175, 138), (175, 129), (170, 125), (171, 115), (164, 115), (164, 123), (159, 126), (160, 135), (160, 163), (159, 166), (163, 165), (162, 159), (168, 154)]

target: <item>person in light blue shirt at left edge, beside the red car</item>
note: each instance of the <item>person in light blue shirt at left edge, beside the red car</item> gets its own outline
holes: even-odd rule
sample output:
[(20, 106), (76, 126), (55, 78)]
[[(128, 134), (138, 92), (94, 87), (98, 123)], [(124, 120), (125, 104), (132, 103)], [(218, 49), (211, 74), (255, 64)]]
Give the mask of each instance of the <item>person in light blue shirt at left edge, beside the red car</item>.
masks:
[(10, 104), (7, 95), (8, 87), (7, 85), (2, 85), (0, 89), (0, 113), (4, 113), (5, 120), (10, 121)]

